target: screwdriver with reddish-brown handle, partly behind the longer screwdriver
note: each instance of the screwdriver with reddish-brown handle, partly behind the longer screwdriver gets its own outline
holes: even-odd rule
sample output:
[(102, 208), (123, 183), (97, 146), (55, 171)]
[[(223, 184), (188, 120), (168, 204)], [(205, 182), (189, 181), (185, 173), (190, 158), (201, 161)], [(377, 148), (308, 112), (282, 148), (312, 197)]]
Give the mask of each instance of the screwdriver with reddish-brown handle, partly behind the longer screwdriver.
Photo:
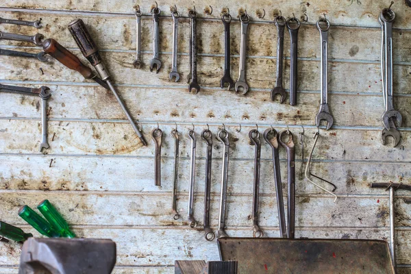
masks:
[(99, 77), (97, 77), (97, 75), (92, 73), (91, 69), (88, 66), (84, 66), (82, 61), (80, 61), (76, 55), (71, 53), (69, 49), (66, 49), (65, 47), (60, 45), (56, 40), (51, 38), (46, 39), (42, 43), (42, 47), (45, 53), (51, 55), (53, 58), (55, 58), (55, 60), (58, 60), (58, 62), (64, 64), (64, 66), (79, 72), (86, 79), (93, 79), (103, 88), (110, 90), (108, 85), (105, 84), (105, 82), (103, 82)]

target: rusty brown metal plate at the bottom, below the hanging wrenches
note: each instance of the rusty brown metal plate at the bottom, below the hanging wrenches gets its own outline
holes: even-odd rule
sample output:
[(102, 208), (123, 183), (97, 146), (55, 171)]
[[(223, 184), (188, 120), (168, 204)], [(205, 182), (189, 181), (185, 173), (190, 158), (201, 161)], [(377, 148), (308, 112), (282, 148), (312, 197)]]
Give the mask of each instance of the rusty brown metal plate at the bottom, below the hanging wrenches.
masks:
[(245, 273), (394, 273), (383, 240), (220, 238), (220, 258)]

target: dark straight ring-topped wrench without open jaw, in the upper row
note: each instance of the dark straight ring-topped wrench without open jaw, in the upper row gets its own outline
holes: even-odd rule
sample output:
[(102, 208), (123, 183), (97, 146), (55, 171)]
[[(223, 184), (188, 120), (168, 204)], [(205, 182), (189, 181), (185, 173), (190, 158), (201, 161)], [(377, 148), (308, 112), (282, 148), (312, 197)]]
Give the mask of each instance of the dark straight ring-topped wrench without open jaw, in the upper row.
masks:
[(297, 105), (297, 40), (300, 22), (292, 17), (287, 21), (290, 33), (290, 105)]

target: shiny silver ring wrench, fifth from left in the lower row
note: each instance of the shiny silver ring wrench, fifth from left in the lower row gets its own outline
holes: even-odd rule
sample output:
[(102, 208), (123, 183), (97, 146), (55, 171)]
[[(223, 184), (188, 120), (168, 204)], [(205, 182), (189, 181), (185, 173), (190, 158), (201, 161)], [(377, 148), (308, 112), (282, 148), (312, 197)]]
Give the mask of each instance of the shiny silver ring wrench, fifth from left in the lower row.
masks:
[(220, 193), (220, 214), (219, 214), (219, 231), (217, 237), (228, 237), (225, 233), (225, 211), (227, 208), (227, 183), (228, 183), (228, 159), (229, 159), (229, 138), (228, 132), (221, 129), (217, 134), (217, 139), (223, 143), (223, 170), (221, 175), (221, 193)]

